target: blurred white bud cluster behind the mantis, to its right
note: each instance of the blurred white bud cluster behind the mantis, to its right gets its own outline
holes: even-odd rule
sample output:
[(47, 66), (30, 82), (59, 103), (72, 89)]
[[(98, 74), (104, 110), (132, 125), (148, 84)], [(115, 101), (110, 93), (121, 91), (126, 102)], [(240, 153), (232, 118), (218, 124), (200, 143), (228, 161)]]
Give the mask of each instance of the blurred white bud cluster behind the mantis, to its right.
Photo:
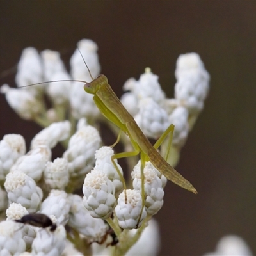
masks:
[[(179, 161), (180, 149), (186, 143), (188, 133), (204, 108), (209, 91), (209, 74), (196, 53), (181, 54), (175, 70), (174, 99), (166, 98), (158, 83), (158, 76), (150, 68), (136, 81), (128, 79), (124, 84), (126, 92), (121, 101), (134, 116), (143, 133), (158, 139), (170, 124), (175, 125), (172, 149), (168, 162), (173, 166)], [(167, 144), (163, 144), (163, 152)]]

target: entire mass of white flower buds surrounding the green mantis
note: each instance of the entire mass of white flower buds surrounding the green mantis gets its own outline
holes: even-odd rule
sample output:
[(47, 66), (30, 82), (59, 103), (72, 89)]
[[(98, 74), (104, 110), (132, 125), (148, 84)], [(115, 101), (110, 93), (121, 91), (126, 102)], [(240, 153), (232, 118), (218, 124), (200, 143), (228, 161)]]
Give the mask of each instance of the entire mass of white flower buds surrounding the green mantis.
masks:
[[(18, 87), (62, 81), (22, 89), (4, 84), (0, 89), (20, 117), (45, 127), (28, 152), (19, 134), (7, 134), (0, 141), (0, 211), (7, 209), (6, 221), (0, 223), (0, 255), (81, 255), (93, 242), (101, 244), (92, 245), (93, 255), (108, 255), (115, 244), (116, 255), (128, 250), (129, 255), (156, 255), (159, 232), (150, 219), (163, 206), (167, 179), (150, 162), (141, 170), (139, 161), (131, 173), (133, 188), (127, 189), (117, 161), (126, 155), (116, 156), (112, 147), (101, 147), (98, 121), (102, 117), (93, 95), (84, 92), (83, 83), (63, 81), (92, 81), (84, 60), (92, 76), (99, 75), (95, 42), (84, 39), (77, 45), (70, 74), (56, 51), (38, 54), (28, 47), (22, 52), (15, 78)], [(129, 79), (124, 84), (130, 92), (122, 102), (150, 138), (159, 138), (173, 123), (173, 145), (180, 148), (191, 129), (191, 118), (204, 106), (209, 75), (197, 54), (180, 56), (175, 75), (175, 99), (166, 98), (158, 77), (146, 68), (139, 81)], [(166, 141), (161, 150), (166, 150)], [(129, 147), (129, 140), (123, 142)], [(66, 149), (62, 157), (52, 159), (58, 143)], [(82, 190), (83, 197), (76, 195)], [(133, 246), (136, 241), (137, 247)]]

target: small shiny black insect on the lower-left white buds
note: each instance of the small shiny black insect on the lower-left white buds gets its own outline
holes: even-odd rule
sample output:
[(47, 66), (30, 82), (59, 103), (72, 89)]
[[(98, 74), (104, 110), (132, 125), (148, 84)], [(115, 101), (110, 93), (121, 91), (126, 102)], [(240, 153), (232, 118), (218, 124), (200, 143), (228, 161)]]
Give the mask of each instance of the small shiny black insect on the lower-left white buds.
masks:
[(31, 213), (24, 215), (21, 219), (15, 220), (16, 222), (29, 224), (35, 227), (47, 228), (51, 227), (50, 230), (53, 232), (56, 230), (57, 225), (52, 223), (52, 220), (42, 213)]

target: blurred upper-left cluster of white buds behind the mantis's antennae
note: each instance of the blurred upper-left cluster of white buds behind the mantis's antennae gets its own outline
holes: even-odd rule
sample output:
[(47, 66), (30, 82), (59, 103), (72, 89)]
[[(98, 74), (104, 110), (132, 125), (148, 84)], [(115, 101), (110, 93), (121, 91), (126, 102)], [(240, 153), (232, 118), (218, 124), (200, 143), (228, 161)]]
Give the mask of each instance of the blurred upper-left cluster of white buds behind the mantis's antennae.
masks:
[[(100, 72), (97, 45), (87, 39), (81, 40), (77, 45), (84, 60), (90, 65), (92, 76), (97, 77)], [(28, 47), (22, 52), (15, 81), (18, 87), (22, 87), (42, 81), (92, 80), (78, 50), (70, 60), (70, 67), (71, 75), (68, 74), (60, 54), (56, 51), (45, 50), (40, 56), (35, 48)], [(46, 108), (44, 92), (51, 99), (52, 108)], [(4, 84), (1, 93), (5, 93), (6, 100), (20, 117), (34, 120), (44, 126), (70, 115), (76, 119), (82, 117), (95, 119), (99, 115), (99, 109), (95, 106), (92, 95), (84, 93), (81, 82), (38, 84), (22, 90)]]

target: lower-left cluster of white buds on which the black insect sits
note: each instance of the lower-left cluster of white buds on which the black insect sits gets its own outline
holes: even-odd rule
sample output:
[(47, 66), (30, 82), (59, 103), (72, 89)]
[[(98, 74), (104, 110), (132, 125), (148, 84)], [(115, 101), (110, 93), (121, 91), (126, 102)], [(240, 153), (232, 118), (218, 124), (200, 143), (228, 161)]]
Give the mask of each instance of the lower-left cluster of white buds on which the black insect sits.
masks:
[[(4, 181), (6, 191), (4, 193), (1, 189), (2, 211), (7, 207), (7, 199), (10, 204), (6, 210), (7, 219), (3, 222), (4, 228), (9, 228), (10, 232), (1, 234), (0, 231), (1, 255), (20, 255), (25, 250), (31, 250), (33, 255), (60, 255), (66, 243), (63, 225), (68, 223), (70, 216), (70, 226), (83, 234), (88, 241), (101, 242), (106, 236), (108, 228), (104, 221), (95, 221), (90, 216), (83, 207), (80, 196), (64, 191), (70, 184), (70, 169), (81, 172), (84, 166), (92, 167), (95, 150), (99, 148), (101, 141), (97, 129), (88, 125), (83, 118), (79, 120), (77, 129), (73, 137), (80, 134), (79, 138), (72, 141), (72, 147), (76, 148), (75, 154), (69, 156), (68, 148), (63, 154), (66, 158), (57, 158), (53, 162), (51, 149), (70, 136), (68, 121), (51, 124), (36, 134), (31, 141), (33, 149), (27, 153), (24, 138), (18, 134), (8, 134), (0, 141), (1, 180)], [(88, 168), (86, 170), (89, 172)], [(46, 197), (44, 200), (43, 195)], [(21, 224), (10, 221), (35, 212), (51, 216), (57, 223), (57, 228), (53, 231), (44, 228), (38, 230), (38, 227), (44, 227), (44, 223), (36, 225), (38, 227), (24, 224), (20, 227)], [(20, 231), (16, 234), (12, 230)], [(15, 246), (8, 247), (9, 239), (13, 239)]]

